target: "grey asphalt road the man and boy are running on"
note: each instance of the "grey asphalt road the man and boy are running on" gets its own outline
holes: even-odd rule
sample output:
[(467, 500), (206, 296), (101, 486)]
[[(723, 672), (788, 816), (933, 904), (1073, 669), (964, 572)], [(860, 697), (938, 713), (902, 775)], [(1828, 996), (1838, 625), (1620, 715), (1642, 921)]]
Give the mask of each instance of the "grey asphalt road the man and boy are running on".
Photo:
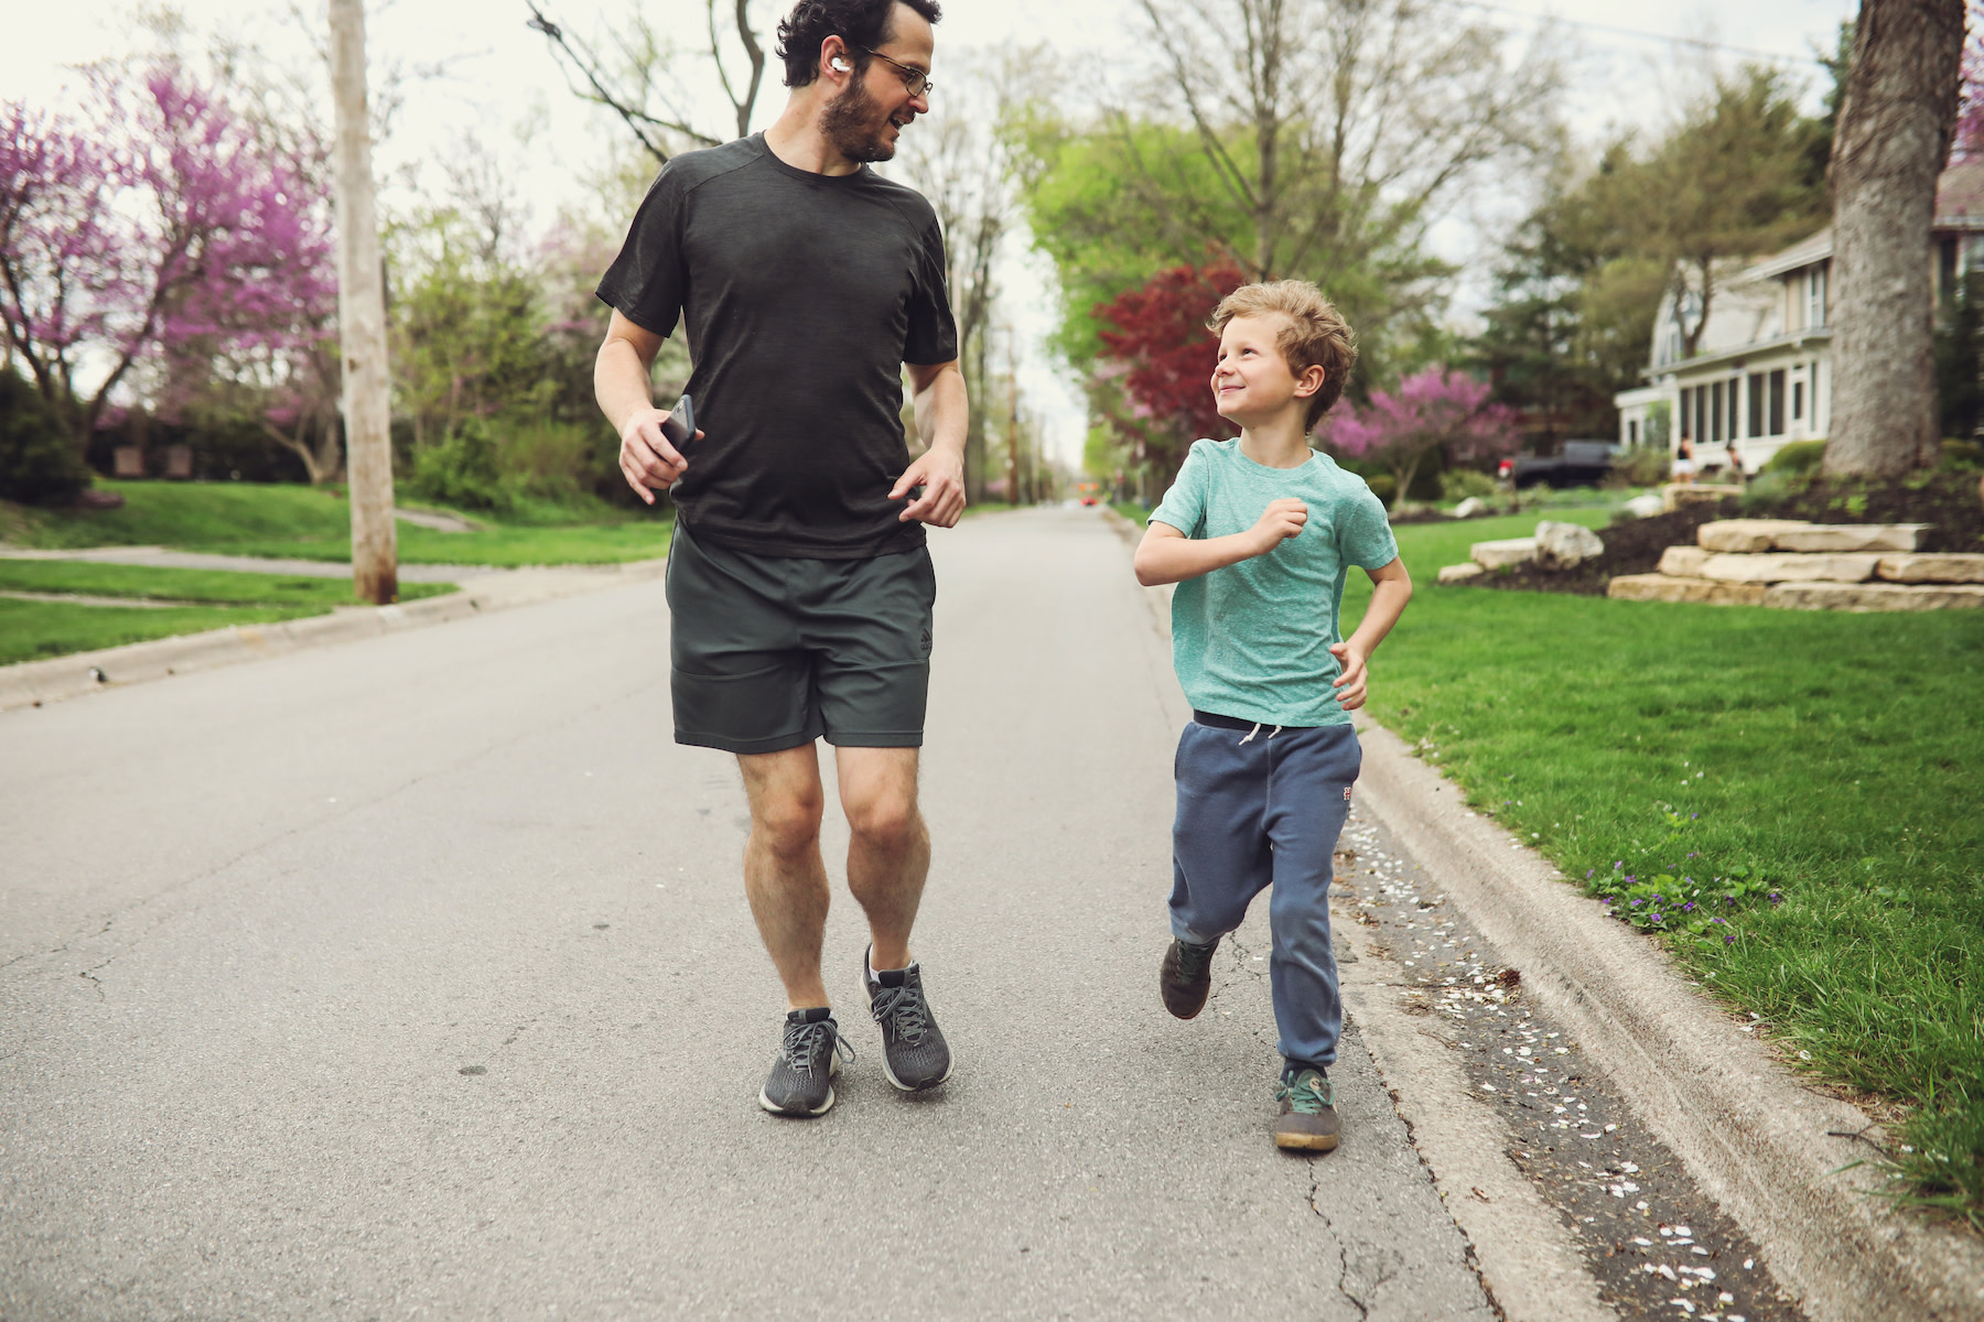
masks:
[(1355, 1035), (1343, 1146), (1270, 1146), (1266, 904), (1157, 1001), (1184, 710), (1117, 535), (932, 543), (958, 1070), (881, 1076), (841, 890), (817, 1122), (756, 1106), (784, 1007), (659, 583), (0, 716), (0, 1316), (1488, 1322)]

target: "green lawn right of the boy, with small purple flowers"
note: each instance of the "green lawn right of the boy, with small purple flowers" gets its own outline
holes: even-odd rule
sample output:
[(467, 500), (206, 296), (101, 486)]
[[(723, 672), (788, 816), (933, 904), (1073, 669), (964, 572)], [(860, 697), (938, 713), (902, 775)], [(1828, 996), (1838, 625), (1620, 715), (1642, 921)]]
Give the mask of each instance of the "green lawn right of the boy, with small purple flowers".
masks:
[[(1984, 612), (1432, 583), (1534, 523), (1399, 529), (1417, 597), (1371, 714), (1798, 1068), (1911, 1106), (1907, 1195), (1984, 1229)], [(1345, 618), (1367, 599), (1351, 575)]]

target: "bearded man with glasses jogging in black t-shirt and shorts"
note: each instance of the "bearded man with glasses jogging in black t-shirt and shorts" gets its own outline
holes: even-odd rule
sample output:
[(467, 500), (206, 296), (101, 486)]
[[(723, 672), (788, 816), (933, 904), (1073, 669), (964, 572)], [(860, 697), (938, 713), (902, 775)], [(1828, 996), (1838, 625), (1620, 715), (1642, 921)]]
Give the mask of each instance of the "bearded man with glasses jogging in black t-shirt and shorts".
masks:
[[(861, 987), (889, 1082), (932, 1088), (950, 1048), (909, 934), (930, 864), (917, 757), (936, 585), (925, 523), (964, 511), (964, 377), (930, 204), (869, 168), (929, 113), (932, 0), (800, 0), (780, 24), (792, 95), (768, 131), (675, 157), (599, 283), (593, 386), (641, 499), (671, 488), (675, 737), (730, 751), (752, 830), (744, 890), (786, 983), (758, 1102), (833, 1106), (841, 1041), (821, 981), (827, 874), (813, 739), (835, 747)], [(682, 317), (702, 430), (681, 446), (649, 369)], [(909, 371), (917, 428), (901, 424)]]

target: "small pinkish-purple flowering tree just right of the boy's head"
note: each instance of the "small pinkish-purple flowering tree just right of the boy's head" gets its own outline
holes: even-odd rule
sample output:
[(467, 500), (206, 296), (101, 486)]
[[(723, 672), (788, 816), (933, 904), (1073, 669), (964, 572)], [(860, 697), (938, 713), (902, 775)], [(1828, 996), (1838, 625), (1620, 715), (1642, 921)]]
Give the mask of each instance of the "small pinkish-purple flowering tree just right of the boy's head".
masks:
[(1373, 390), (1365, 408), (1323, 416), (1319, 436), (1333, 452), (1383, 464), (1397, 480), (1393, 503), (1432, 452), (1450, 464), (1512, 454), (1516, 414), (1488, 402), (1490, 386), (1444, 367), (1407, 377), (1393, 392)]

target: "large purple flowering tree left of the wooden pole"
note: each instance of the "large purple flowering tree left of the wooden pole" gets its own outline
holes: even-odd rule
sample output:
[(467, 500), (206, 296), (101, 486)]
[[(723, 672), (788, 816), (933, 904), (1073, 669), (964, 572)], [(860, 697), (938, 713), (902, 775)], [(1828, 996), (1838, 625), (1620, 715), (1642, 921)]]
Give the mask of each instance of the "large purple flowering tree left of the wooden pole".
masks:
[(335, 272), (308, 153), (177, 65), (101, 79), (93, 109), (0, 105), (0, 329), (77, 446), (147, 363), (167, 406), (198, 363), (317, 392), (296, 355), (329, 335)]

